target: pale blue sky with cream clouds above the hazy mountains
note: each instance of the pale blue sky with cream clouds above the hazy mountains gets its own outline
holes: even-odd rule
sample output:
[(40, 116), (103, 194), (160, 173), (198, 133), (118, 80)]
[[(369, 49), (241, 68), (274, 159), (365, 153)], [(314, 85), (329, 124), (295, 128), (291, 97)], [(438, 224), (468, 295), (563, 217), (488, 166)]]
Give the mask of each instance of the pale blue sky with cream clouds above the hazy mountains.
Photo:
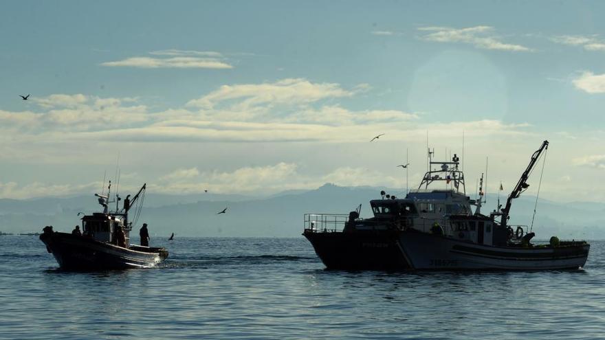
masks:
[(427, 139), (463, 155), (467, 192), (486, 166), (488, 192), (509, 191), (547, 139), (528, 193), (603, 202), (604, 10), (4, 1), (0, 198), (98, 192), (118, 172), (122, 190), (168, 194), (415, 188)]

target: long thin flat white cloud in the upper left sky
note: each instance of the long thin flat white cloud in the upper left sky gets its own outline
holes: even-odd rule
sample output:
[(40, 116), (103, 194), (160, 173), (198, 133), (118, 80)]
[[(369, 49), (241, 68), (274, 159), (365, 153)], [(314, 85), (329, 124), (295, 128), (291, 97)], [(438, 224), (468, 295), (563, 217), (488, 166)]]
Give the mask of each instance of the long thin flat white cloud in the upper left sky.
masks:
[(177, 69), (232, 69), (233, 66), (224, 61), (213, 58), (197, 57), (173, 57), (173, 58), (151, 58), (133, 57), (124, 60), (109, 61), (102, 66), (110, 67), (140, 67), (143, 69), (177, 68)]

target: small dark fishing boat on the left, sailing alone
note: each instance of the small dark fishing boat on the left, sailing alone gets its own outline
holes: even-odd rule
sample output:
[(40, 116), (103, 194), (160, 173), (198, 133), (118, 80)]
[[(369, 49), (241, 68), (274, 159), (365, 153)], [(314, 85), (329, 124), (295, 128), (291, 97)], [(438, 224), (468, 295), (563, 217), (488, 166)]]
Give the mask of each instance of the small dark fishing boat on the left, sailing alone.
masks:
[[(128, 214), (137, 201), (135, 216), (139, 216), (146, 185), (130, 199), (124, 199), (120, 209), (120, 196), (115, 195), (115, 212), (109, 212), (109, 192), (107, 196), (95, 194), (103, 207), (103, 212), (95, 212), (82, 218), (83, 233), (74, 230), (71, 234), (43, 229), (40, 240), (52, 253), (61, 269), (76, 271), (96, 271), (107, 269), (151, 268), (168, 257), (168, 251), (161, 247), (145, 247), (129, 244), (129, 234), (133, 223)], [(79, 215), (79, 214), (78, 214)], [(78, 226), (79, 227), (79, 226)]]

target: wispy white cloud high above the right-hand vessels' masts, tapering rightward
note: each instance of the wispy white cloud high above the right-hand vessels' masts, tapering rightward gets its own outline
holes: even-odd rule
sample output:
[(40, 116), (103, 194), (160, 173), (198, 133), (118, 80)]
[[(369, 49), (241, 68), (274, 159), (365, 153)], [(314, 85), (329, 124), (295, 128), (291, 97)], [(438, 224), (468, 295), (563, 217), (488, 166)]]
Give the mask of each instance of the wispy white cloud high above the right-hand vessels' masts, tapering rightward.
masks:
[(494, 28), (475, 26), (456, 29), (452, 27), (419, 27), (423, 32), (421, 39), (438, 43), (466, 43), (480, 49), (496, 49), (511, 52), (531, 52), (532, 49), (522, 45), (503, 43), (494, 36)]

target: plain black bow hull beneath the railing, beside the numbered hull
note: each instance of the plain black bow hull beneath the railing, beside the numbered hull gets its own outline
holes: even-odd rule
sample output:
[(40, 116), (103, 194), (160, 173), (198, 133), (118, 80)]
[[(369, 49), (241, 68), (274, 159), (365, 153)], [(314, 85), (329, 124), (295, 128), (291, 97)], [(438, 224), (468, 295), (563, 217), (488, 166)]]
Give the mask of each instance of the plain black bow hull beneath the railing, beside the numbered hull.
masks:
[(327, 269), (406, 270), (399, 235), (392, 231), (305, 232)]

